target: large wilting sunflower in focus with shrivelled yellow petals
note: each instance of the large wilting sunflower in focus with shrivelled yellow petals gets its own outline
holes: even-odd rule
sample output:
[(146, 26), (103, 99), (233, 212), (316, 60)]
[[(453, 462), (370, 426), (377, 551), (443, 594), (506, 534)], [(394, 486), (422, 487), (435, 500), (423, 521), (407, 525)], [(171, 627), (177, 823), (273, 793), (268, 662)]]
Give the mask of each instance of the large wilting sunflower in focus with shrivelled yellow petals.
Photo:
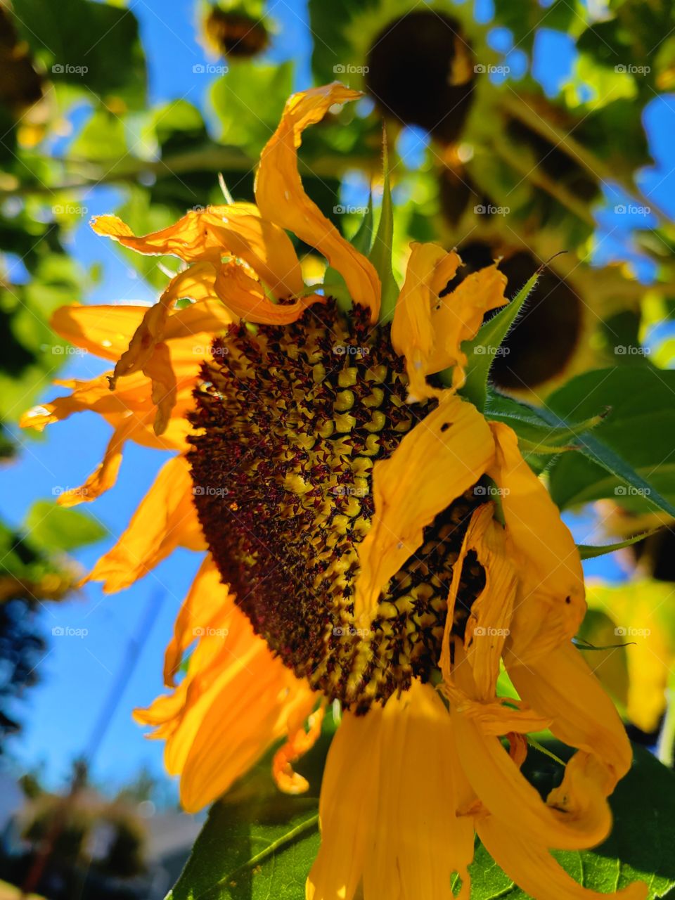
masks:
[[(114, 369), (25, 424), (80, 410), (110, 422), (102, 463), (66, 505), (112, 486), (126, 441), (175, 450), (88, 577), (116, 591), (176, 546), (205, 554), (166, 649), (170, 692), (136, 711), (166, 741), (186, 810), (275, 743), (279, 788), (302, 791), (293, 761), (338, 701), (308, 898), (450, 898), (453, 872), (468, 897), (475, 833), (528, 894), (598, 896), (549, 852), (604, 840), (631, 764), (571, 643), (580, 557), (516, 434), (459, 393), (462, 342), (503, 305), (505, 278), (487, 266), (457, 284), (455, 252), (413, 244), (391, 326), (380, 320), (374, 266), (297, 169), (302, 131), (357, 95), (291, 97), (256, 205), (190, 211), (145, 237), (95, 220), (184, 270), (149, 308), (58, 311), (58, 333)], [(342, 275), (351, 310), (305, 287), (287, 231)], [(502, 663), (518, 700), (498, 696)], [(545, 727), (577, 752), (544, 801), (520, 767)]]

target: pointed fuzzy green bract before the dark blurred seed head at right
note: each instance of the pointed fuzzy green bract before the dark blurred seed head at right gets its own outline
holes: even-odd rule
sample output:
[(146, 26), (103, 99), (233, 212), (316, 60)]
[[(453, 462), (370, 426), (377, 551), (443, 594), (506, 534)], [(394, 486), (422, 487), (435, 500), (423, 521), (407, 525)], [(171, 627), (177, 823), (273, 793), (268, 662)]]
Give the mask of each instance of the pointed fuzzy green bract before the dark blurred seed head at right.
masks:
[[(488, 399), (488, 383), (494, 358), (499, 353), (509, 331), (513, 328), (523, 303), (534, 290), (538, 277), (538, 273), (533, 275), (503, 310), (482, 325), (473, 340), (465, 341), (462, 345), (468, 364), (466, 382), (460, 393), (481, 411), (485, 409)], [(444, 381), (449, 379), (451, 382), (452, 374), (450, 372), (442, 373), (441, 378)]]

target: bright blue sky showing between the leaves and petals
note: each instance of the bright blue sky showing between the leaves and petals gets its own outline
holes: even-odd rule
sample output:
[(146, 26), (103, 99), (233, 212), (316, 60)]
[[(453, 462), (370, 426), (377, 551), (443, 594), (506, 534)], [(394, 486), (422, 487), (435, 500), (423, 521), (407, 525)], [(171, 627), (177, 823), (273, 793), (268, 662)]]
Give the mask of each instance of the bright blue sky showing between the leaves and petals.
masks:
[[(131, 0), (130, 6), (139, 18), (142, 39), (148, 55), (150, 99), (152, 103), (167, 101), (187, 94), (186, 99), (201, 105), (205, 96), (203, 85), (194, 87), (192, 67), (204, 62), (204, 52), (197, 43), (193, 4), (185, 0)], [(480, 3), (480, 18), (490, 21), (491, 4)], [(161, 16), (157, 13), (161, 10)], [(269, 4), (277, 23), (270, 58), (296, 61), (296, 87), (311, 83), (311, 40), (306, 24), (305, 4), (302, 0), (278, 0)], [(500, 29), (492, 36), (495, 49), (513, 53), (509, 34)], [(555, 32), (543, 32), (536, 40), (534, 72), (554, 95), (569, 74), (573, 48), (570, 40)], [(186, 75), (186, 73), (190, 73)], [(667, 129), (672, 121), (673, 98), (655, 101), (647, 111), (645, 124), (652, 138), (657, 165), (644, 173), (646, 190), (658, 185), (661, 202), (675, 211), (675, 184), (671, 169), (673, 149)], [(83, 114), (83, 113), (80, 113)], [(672, 130), (671, 130), (672, 133)], [(410, 163), (415, 165), (419, 151), (419, 135), (402, 139), (401, 148), (410, 145)], [(97, 188), (82, 198), (91, 215), (113, 211), (120, 205), (123, 194), (110, 187)], [(608, 210), (619, 202), (608, 192)], [(112, 243), (96, 238), (86, 220), (72, 237), (72, 252), (83, 264), (103, 264), (103, 279), (97, 284), (88, 302), (154, 300), (155, 294), (143, 284), (135, 272), (121, 259)], [(600, 231), (616, 225), (608, 211), (601, 216)], [(623, 242), (629, 239), (627, 229), (606, 241), (607, 253), (623, 252)], [(647, 268), (640, 275), (650, 276)], [(67, 375), (91, 377), (103, 370), (94, 359), (73, 356)], [(50, 389), (47, 396), (55, 395)], [(84, 419), (83, 419), (84, 416)], [(25, 510), (34, 500), (51, 498), (59, 487), (73, 487), (84, 481), (101, 459), (109, 437), (108, 428), (92, 414), (82, 414), (48, 429), (47, 437), (35, 440), (20, 436), (23, 455), (17, 464), (0, 471), (0, 513), (18, 524)], [(161, 455), (142, 447), (129, 445), (124, 455), (119, 482), (113, 491), (103, 495), (87, 507), (110, 531), (110, 539), (101, 545), (86, 548), (76, 554), (84, 569), (94, 563), (113, 537), (119, 535), (139, 500), (152, 482)], [(583, 535), (584, 525), (581, 523)], [(94, 761), (94, 777), (108, 786), (119, 785), (129, 779), (143, 763), (161, 771), (162, 747), (148, 742), (142, 730), (130, 718), (130, 709), (147, 704), (161, 692), (161, 658), (172, 631), (176, 609), (184, 597), (196, 571), (199, 559), (186, 551), (174, 554), (144, 581), (106, 597), (97, 585), (85, 587), (76, 599), (59, 606), (48, 606), (42, 621), (45, 631), (52, 627), (69, 626), (86, 629), (85, 637), (54, 637), (49, 635), (50, 649), (40, 665), (40, 686), (26, 695), (20, 707), (25, 727), (23, 735), (14, 742), (14, 757), (26, 766), (40, 762), (53, 785), (67, 776), (69, 762), (85, 749), (101, 707), (116, 677), (131, 638), (139, 640), (138, 658), (129, 684), (105, 740)], [(600, 568), (601, 567), (601, 568)], [(618, 577), (615, 563), (593, 563), (594, 571)], [(157, 618), (148, 634), (139, 635), (139, 625), (147, 617), (148, 604), (158, 608)]]

